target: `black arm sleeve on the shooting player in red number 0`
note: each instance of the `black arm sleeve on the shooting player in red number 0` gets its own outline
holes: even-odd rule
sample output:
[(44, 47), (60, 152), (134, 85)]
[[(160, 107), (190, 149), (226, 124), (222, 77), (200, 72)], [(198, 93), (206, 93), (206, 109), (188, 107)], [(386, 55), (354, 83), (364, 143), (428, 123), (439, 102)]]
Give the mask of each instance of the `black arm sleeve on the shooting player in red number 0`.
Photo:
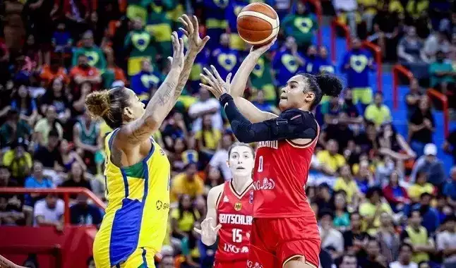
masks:
[(259, 142), (266, 140), (293, 140), (315, 139), (317, 136), (317, 123), (313, 114), (299, 109), (289, 109), (279, 117), (260, 123), (251, 123), (234, 104), (231, 95), (224, 94), (220, 103), (236, 138), (240, 142)]

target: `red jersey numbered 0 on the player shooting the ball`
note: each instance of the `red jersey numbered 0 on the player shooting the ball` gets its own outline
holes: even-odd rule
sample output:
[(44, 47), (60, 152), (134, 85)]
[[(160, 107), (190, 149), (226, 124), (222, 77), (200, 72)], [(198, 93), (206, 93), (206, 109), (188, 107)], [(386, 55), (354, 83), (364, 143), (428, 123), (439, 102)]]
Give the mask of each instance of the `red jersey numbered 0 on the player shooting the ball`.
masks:
[(253, 217), (315, 217), (305, 187), (318, 132), (308, 145), (296, 145), (290, 140), (258, 142), (253, 170)]

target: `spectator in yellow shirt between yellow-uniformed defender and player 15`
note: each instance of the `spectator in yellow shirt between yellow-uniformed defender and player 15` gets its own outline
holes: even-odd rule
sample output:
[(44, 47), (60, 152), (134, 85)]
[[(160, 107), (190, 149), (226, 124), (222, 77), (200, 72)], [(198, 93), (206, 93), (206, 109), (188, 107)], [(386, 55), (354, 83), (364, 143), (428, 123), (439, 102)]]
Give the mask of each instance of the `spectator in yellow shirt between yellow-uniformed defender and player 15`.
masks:
[(179, 173), (172, 179), (170, 200), (176, 202), (179, 195), (189, 195), (196, 199), (204, 193), (203, 179), (196, 173), (197, 166), (194, 162), (189, 162), (185, 167), (184, 173)]

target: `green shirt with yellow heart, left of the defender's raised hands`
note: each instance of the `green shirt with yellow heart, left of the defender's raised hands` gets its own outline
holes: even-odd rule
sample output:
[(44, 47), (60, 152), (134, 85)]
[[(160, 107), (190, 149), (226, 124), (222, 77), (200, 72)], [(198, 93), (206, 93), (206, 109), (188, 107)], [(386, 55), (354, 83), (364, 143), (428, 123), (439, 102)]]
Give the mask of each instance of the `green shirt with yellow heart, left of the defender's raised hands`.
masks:
[(130, 49), (130, 56), (150, 56), (155, 60), (157, 50), (153, 46), (152, 35), (146, 30), (132, 30), (125, 37), (124, 46)]

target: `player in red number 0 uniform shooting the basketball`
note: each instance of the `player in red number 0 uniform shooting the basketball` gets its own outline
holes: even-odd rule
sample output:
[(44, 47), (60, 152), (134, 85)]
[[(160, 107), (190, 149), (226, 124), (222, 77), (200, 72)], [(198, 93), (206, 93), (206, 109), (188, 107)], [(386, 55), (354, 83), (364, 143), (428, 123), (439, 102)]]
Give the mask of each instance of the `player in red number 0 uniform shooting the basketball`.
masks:
[[(280, 92), (282, 113), (260, 111), (243, 99), (248, 75), (272, 44), (252, 49), (230, 83), (213, 66), (205, 69), (202, 85), (220, 99), (236, 138), (258, 142), (253, 174), (254, 202), (251, 248), (247, 267), (315, 268), (320, 236), (305, 193), (308, 169), (319, 126), (311, 111), (323, 95), (337, 97), (340, 80), (332, 75), (294, 75)], [(239, 110), (238, 110), (239, 109)], [(278, 263), (265, 261), (272, 254)]]

